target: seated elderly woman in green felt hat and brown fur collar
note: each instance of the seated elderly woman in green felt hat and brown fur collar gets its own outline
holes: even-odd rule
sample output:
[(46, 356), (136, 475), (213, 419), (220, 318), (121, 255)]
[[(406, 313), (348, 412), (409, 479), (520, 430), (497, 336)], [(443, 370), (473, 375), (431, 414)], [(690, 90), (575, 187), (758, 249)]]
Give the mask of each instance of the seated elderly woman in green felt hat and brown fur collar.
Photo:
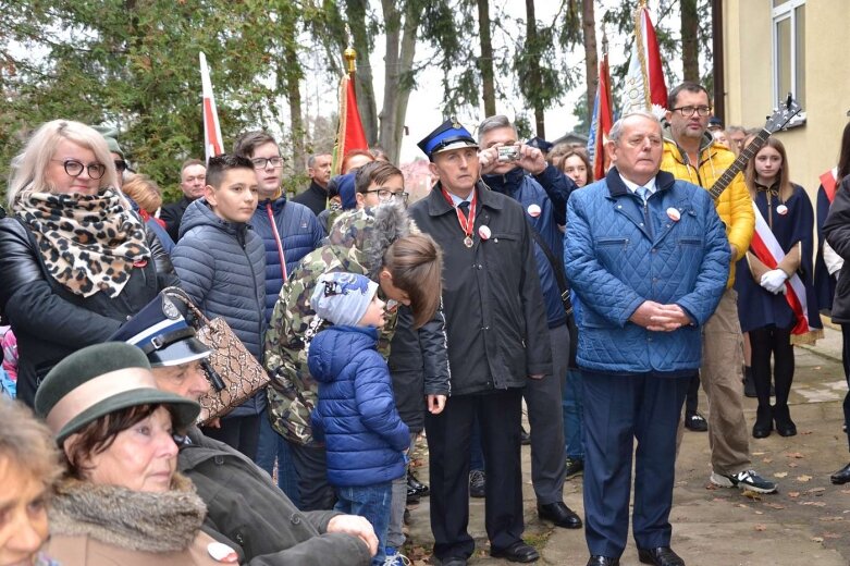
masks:
[(199, 410), (158, 390), (147, 357), (130, 344), (98, 344), (60, 361), (36, 395), (66, 467), (48, 553), (62, 564), (238, 562), (200, 530), (207, 507), (176, 472), (173, 435)]

